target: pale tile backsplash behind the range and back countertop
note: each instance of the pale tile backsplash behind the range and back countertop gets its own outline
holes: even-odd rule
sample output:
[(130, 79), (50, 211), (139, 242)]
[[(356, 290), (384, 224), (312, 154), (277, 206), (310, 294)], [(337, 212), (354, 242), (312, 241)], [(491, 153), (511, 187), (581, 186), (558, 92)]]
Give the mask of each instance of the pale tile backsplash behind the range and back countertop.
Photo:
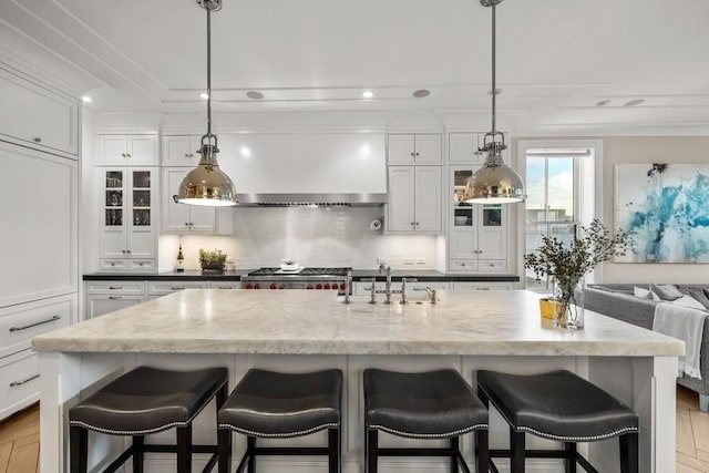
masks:
[(435, 269), (442, 237), (372, 230), (371, 222), (382, 215), (381, 207), (236, 208), (232, 235), (161, 236), (160, 269), (174, 267), (179, 241), (187, 269), (198, 269), (199, 248), (222, 249), (242, 269), (277, 266), (286, 258), (354, 268), (376, 268), (377, 258), (383, 258), (392, 268)]

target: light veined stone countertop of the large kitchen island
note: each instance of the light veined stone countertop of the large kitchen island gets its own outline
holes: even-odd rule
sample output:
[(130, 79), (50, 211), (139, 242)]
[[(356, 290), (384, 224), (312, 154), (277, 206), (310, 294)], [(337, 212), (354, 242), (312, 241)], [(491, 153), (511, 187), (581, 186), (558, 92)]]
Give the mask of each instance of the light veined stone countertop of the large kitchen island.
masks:
[[(186, 289), (48, 332), (38, 351), (158, 353), (680, 356), (684, 342), (586, 311), (580, 331), (540, 318), (523, 290), (439, 291), (439, 302), (351, 305), (327, 291)], [(398, 295), (392, 295), (398, 300)]]

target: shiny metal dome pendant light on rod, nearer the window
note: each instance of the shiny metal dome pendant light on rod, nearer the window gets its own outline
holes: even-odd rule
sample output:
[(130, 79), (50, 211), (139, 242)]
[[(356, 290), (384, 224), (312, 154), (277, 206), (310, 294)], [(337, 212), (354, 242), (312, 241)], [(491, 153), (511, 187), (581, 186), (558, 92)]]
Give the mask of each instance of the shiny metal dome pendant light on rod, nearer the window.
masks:
[[(492, 131), (485, 133), (483, 146), (479, 151), (487, 152), (485, 163), (467, 179), (464, 200), (471, 204), (512, 204), (524, 202), (522, 177), (502, 158), (505, 136), (495, 128), (495, 6), (502, 0), (481, 0), (483, 7), (492, 7)], [(500, 140), (497, 140), (500, 138)]]

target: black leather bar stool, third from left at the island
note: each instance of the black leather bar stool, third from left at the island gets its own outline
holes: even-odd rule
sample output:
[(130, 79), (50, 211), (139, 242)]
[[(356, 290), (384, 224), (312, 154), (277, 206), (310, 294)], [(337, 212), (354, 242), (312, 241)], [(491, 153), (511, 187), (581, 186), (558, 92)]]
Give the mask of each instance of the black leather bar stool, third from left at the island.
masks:
[[(380, 456), (449, 456), (451, 473), (470, 469), (460, 436), (475, 432), (476, 471), (487, 472), (487, 409), (455, 370), (401, 373), (367, 369), (364, 462), (377, 473)], [(380, 448), (379, 431), (410, 439), (450, 439), (449, 448)]]

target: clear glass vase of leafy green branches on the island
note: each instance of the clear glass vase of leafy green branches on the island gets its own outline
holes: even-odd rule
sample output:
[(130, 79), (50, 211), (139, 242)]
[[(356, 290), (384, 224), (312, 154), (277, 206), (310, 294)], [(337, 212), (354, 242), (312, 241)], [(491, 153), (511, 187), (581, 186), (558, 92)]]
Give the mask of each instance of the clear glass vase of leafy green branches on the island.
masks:
[(618, 229), (612, 235), (597, 218), (580, 229), (571, 244), (544, 236), (542, 246), (524, 255), (524, 267), (532, 269), (537, 280), (543, 276), (553, 278), (554, 299), (559, 306), (555, 322), (573, 330), (584, 327), (583, 305), (576, 304), (575, 291), (586, 274), (614, 256), (625, 255), (630, 245), (628, 234)]

